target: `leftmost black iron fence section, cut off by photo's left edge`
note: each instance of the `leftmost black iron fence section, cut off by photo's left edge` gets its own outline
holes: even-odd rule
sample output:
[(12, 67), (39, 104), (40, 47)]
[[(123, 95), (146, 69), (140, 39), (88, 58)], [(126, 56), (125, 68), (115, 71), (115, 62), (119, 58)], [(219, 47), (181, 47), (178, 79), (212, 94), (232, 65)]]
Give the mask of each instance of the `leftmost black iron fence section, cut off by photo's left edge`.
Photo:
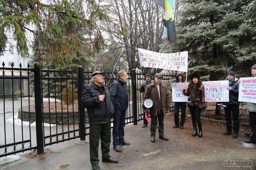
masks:
[[(31, 124), (29, 97), (33, 69), (0, 67), (0, 157), (36, 149), (35, 124)], [(26, 89), (26, 91), (24, 90)], [(24, 91), (27, 94), (24, 94)], [(28, 95), (23, 98), (23, 95)]]

